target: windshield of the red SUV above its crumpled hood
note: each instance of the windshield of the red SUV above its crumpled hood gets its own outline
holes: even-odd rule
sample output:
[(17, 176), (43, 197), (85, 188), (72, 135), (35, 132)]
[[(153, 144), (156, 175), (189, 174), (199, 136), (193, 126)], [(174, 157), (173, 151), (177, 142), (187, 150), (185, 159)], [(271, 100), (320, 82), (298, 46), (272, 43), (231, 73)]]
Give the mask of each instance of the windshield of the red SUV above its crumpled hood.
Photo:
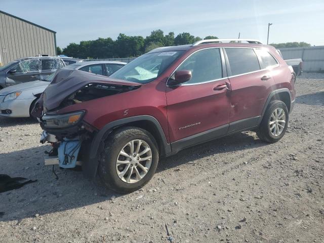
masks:
[(144, 54), (110, 77), (147, 84), (163, 73), (182, 54), (183, 51)]

